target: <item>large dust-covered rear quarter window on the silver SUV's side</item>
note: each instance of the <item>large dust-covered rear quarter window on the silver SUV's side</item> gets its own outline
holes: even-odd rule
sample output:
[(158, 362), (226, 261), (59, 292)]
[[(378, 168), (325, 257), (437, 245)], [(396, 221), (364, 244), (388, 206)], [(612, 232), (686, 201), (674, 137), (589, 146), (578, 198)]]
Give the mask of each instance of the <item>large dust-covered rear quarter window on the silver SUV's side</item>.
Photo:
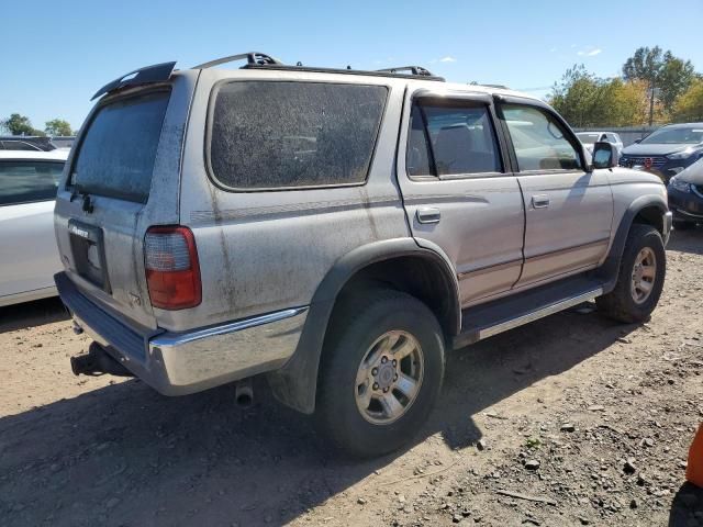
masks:
[(213, 176), (234, 189), (360, 183), (387, 89), (317, 82), (230, 82), (217, 91)]

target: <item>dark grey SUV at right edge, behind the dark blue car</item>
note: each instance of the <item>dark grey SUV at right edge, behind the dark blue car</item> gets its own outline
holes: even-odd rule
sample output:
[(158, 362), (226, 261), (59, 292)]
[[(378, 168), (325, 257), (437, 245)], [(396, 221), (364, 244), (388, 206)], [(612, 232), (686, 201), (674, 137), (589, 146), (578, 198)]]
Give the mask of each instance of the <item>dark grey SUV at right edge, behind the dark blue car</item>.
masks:
[(621, 167), (647, 170), (665, 182), (703, 156), (703, 123), (670, 124), (623, 148)]

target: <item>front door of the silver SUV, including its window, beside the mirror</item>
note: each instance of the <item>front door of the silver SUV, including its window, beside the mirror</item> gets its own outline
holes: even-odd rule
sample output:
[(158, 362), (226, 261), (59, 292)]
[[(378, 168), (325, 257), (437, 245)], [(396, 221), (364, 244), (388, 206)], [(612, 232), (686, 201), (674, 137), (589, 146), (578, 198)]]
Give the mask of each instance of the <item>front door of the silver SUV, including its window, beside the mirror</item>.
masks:
[(607, 171), (588, 171), (577, 137), (548, 106), (514, 98), (499, 108), (525, 200), (525, 265), (516, 287), (598, 267), (613, 222)]

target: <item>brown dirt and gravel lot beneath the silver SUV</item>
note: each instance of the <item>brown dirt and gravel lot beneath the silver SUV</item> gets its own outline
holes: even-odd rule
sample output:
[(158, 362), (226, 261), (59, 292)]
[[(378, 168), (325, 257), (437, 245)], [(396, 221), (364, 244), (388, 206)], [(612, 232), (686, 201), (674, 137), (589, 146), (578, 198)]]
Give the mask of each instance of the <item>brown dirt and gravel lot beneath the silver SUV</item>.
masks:
[(232, 388), (76, 378), (88, 339), (58, 301), (0, 310), (0, 525), (703, 526), (682, 487), (703, 421), (703, 229), (668, 256), (649, 324), (581, 309), (454, 354), (416, 441), (369, 462), (264, 382), (242, 411)]

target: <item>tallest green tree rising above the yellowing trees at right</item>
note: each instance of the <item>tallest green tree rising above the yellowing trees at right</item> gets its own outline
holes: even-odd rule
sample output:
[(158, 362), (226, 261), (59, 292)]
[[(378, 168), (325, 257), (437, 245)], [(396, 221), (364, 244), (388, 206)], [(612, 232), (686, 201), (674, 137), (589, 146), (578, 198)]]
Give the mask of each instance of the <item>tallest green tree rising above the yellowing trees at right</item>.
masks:
[(649, 124), (654, 120), (655, 100), (658, 98), (665, 111), (671, 111), (694, 76), (690, 60), (674, 57), (669, 51), (662, 52), (659, 46), (637, 48), (623, 66), (625, 80), (644, 80), (649, 85)]

